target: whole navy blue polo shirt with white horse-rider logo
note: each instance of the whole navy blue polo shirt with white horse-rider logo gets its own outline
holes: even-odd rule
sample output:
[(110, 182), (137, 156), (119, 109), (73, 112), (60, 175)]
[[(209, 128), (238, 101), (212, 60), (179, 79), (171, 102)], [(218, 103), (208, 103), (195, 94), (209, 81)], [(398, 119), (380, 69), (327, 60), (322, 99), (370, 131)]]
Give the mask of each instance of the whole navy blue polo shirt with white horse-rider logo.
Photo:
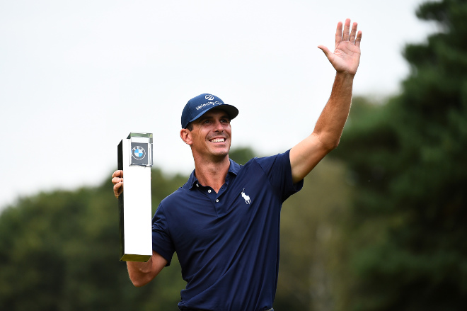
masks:
[(192, 172), (161, 201), (153, 218), (153, 249), (171, 263), (176, 251), (187, 282), (180, 310), (269, 310), (279, 267), (282, 203), (303, 186), (292, 182), (289, 151), (231, 160), (219, 193)]

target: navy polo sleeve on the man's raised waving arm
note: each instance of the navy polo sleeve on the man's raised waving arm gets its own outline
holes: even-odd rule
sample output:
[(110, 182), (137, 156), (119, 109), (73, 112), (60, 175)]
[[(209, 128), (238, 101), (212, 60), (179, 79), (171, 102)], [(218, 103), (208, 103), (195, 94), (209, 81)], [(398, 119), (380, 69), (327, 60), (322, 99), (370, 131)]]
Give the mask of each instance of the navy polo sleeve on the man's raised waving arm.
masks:
[(304, 186), (302, 179), (298, 183), (292, 181), (292, 167), (290, 166), (290, 150), (271, 157), (258, 158), (258, 164), (267, 175), (272, 187), (280, 194), (282, 202), (289, 196), (301, 190)]

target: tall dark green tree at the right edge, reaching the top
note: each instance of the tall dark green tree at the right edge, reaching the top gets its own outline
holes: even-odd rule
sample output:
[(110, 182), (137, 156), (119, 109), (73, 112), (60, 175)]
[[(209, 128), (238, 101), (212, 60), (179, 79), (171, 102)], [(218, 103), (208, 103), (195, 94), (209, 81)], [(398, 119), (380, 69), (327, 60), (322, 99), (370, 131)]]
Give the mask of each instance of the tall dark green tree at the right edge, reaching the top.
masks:
[(417, 16), (439, 33), (405, 47), (399, 96), (357, 98), (334, 153), (354, 183), (347, 310), (467, 305), (467, 1), (427, 2)]

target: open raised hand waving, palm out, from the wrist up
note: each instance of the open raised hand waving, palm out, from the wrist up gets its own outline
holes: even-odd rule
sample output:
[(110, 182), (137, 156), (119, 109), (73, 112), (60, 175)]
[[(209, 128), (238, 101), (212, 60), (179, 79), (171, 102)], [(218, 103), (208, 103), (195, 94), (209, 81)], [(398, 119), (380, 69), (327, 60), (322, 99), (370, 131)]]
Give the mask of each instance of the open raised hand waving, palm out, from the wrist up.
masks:
[(362, 31), (357, 33), (357, 23), (352, 24), (350, 31), (350, 19), (345, 20), (344, 31), (342, 33), (342, 22), (338, 23), (335, 30), (335, 49), (330, 52), (328, 47), (318, 45), (334, 69), (339, 73), (354, 75), (357, 73), (360, 62), (360, 42), (362, 41)]

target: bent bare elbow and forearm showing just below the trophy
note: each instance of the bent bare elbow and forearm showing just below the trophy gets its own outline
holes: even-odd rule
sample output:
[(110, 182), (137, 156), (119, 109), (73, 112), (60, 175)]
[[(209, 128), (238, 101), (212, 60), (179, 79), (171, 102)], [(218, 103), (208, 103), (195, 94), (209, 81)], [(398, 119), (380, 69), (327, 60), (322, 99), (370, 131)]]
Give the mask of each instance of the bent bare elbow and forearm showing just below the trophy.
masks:
[(129, 279), (136, 287), (144, 286), (151, 282), (166, 264), (167, 260), (156, 251), (152, 251), (152, 256), (147, 262), (127, 261)]

